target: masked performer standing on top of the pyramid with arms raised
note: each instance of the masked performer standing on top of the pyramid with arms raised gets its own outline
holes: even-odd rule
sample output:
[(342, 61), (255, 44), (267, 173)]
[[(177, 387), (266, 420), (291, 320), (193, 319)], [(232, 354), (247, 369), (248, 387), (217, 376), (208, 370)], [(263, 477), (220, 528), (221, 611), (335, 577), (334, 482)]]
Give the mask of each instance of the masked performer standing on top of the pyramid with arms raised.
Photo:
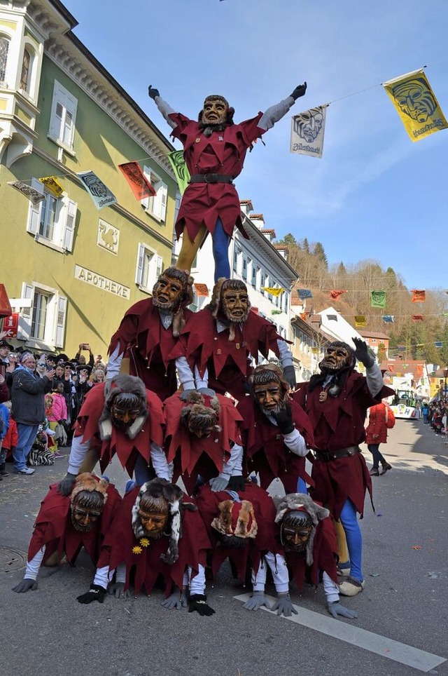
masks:
[(180, 269), (191, 270), (197, 250), (209, 232), (213, 238), (215, 281), (230, 277), (228, 248), (235, 225), (247, 238), (233, 181), (241, 173), (253, 142), (286, 115), (306, 90), (305, 82), (265, 113), (235, 124), (235, 110), (221, 95), (207, 96), (196, 122), (174, 111), (162, 100), (159, 90), (149, 86), (148, 95), (172, 128), (172, 136), (183, 144), (190, 172), (190, 185), (183, 194), (176, 221), (178, 239), (184, 234), (177, 262)]

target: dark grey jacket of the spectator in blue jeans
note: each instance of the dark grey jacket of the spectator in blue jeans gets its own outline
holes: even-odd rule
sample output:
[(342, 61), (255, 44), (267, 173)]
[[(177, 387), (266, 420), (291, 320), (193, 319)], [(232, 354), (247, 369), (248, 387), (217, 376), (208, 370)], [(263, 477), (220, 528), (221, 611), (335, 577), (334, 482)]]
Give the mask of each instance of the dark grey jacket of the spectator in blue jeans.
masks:
[(34, 372), (18, 366), (13, 373), (11, 401), (16, 423), (40, 425), (45, 420), (44, 394), (49, 392), (52, 381), (39, 378)]

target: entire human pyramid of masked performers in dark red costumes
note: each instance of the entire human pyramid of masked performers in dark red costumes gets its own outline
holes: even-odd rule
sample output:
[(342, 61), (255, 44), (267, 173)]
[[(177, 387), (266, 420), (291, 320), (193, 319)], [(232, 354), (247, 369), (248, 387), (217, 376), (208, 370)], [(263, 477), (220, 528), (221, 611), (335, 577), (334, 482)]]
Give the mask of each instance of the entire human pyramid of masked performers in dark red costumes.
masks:
[[(357, 616), (339, 594), (356, 595), (365, 585), (356, 514), (363, 514), (372, 484), (358, 445), (367, 407), (388, 396), (388, 388), (366, 344), (356, 339), (356, 350), (330, 344), (321, 372), (297, 386), (288, 343), (251, 311), (246, 285), (230, 279), (223, 248), (239, 224), (239, 212), (230, 209), (238, 196), (228, 179), (241, 171), (253, 140), (305, 89), (306, 83), (295, 88), (275, 113), (236, 125), (223, 97), (207, 97), (198, 123), (171, 111), (150, 88), (183, 142), (192, 175), (176, 223), (185, 250), (181, 264), (160, 275), (153, 296), (127, 311), (111, 339), (109, 379), (92, 388), (81, 407), (68, 472), (41, 504), (25, 579), (15, 592), (36, 589), (42, 564), (64, 555), (73, 564), (84, 547), (97, 570), (80, 603), (102, 603), (108, 592), (150, 594), (162, 579), (165, 608), (211, 615), (206, 570), (214, 577), (229, 559), (242, 581), (251, 576), (245, 609), (265, 605), (290, 616), (297, 612), (290, 583), (300, 589), (307, 580), (323, 582), (333, 617)], [(225, 274), (218, 272), (210, 304), (193, 313), (187, 307), (192, 251), (207, 231), (216, 268)], [(258, 365), (269, 351), (281, 367)], [(354, 370), (356, 358), (365, 377)], [(114, 456), (130, 476), (123, 498), (109, 480), (92, 474), (98, 461), (104, 473)], [(285, 495), (269, 495), (274, 479)], [(337, 523), (346, 548), (337, 543)], [(277, 593), (273, 607), (265, 596), (268, 569)]]

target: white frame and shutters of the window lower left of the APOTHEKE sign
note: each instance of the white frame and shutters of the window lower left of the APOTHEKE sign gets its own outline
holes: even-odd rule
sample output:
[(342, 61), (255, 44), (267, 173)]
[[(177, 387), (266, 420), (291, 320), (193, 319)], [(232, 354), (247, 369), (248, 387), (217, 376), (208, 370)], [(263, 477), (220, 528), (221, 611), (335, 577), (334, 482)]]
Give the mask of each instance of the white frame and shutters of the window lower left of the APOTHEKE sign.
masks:
[[(43, 339), (31, 335), (31, 323), (36, 293), (48, 296)], [(40, 282), (23, 282), (22, 298), (30, 299), (31, 306), (22, 308), (19, 316), (18, 339), (25, 340), (27, 346), (42, 349), (64, 347), (67, 299), (54, 289)]]

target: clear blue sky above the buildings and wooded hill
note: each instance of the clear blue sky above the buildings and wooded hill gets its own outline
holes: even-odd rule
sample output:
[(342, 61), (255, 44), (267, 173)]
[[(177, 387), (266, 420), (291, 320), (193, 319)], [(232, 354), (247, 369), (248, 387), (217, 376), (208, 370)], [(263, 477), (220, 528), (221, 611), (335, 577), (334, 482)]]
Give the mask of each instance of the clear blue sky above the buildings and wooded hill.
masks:
[[(448, 288), (448, 130), (413, 143), (380, 83), (426, 67), (448, 116), (446, 0), (65, 0), (74, 32), (151, 116), (157, 86), (195, 118), (223, 94), (235, 121), (308, 83), (237, 180), (277, 238), (320, 241), (330, 264), (374, 259), (408, 288)], [(125, 13), (123, 13), (125, 12)], [(323, 158), (290, 154), (290, 115), (330, 103)]]

